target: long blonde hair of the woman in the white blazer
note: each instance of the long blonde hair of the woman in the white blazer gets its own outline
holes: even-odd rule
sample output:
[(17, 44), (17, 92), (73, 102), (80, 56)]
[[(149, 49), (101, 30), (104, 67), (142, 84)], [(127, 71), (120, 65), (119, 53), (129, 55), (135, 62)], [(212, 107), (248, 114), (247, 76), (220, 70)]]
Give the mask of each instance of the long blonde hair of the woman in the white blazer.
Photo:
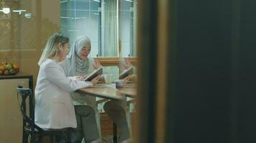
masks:
[(47, 40), (45, 49), (42, 52), (40, 60), (38, 61), (38, 65), (40, 66), (45, 59), (52, 58), (57, 54), (58, 44), (66, 44), (68, 42), (69, 39), (67, 36), (59, 33), (52, 34), (52, 36), (50, 36), (50, 38)]

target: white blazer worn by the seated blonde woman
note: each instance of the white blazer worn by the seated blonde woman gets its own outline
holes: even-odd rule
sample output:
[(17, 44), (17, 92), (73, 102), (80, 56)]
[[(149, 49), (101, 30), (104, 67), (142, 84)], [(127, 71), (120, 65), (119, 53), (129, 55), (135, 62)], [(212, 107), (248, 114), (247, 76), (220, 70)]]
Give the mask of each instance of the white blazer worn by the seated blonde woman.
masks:
[(56, 61), (45, 60), (35, 87), (35, 124), (43, 129), (76, 128), (76, 114), (69, 92), (92, 85), (66, 77)]

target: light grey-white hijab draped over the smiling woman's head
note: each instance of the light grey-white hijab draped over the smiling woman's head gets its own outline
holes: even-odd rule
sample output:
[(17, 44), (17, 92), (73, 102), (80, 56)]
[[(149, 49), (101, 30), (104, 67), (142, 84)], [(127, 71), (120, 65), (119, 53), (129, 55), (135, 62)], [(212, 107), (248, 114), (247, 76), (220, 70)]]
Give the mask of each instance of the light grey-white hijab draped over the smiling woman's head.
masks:
[(91, 40), (88, 38), (88, 36), (80, 36), (71, 46), (70, 52), (66, 57), (66, 62), (69, 69), (67, 76), (83, 76), (85, 74), (88, 74), (88, 69), (90, 66), (89, 59), (81, 59), (79, 57), (81, 49), (87, 44), (91, 45)]

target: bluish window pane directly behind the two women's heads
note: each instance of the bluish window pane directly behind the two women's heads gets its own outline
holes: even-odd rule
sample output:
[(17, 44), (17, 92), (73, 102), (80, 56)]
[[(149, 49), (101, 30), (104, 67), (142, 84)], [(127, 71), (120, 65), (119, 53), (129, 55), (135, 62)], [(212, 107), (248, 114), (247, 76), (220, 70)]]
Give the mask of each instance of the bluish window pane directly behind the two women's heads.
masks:
[(60, 1), (60, 31), (70, 37), (70, 44), (78, 36), (88, 36), (93, 57), (99, 53), (100, 6), (93, 0)]

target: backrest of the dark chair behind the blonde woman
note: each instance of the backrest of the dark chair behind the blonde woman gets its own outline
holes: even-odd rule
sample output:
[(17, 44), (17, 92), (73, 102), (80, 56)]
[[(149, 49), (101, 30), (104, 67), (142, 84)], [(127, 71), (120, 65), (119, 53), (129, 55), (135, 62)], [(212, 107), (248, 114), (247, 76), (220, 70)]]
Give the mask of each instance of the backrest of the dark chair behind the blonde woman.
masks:
[[(17, 96), (22, 97), (22, 102), (19, 102), (20, 111), (22, 112), (23, 117), (23, 127), (26, 127), (27, 129), (31, 129), (32, 132), (37, 129), (38, 131), (43, 131), (40, 127), (38, 127), (35, 124), (35, 107), (34, 107), (34, 99), (32, 94), (32, 89), (27, 88), (17, 88)], [(26, 101), (29, 99), (29, 115), (26, 111)]]

